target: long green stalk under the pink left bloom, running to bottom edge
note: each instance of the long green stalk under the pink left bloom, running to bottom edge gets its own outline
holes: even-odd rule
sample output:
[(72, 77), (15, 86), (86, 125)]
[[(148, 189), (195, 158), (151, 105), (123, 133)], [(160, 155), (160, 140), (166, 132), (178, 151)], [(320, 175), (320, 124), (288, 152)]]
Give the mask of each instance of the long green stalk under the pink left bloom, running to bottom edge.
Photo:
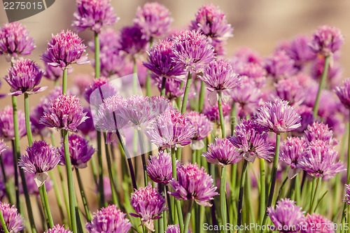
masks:
[(71, 156), (69, 155), (69, 142), (68, 142), (68, 131), (63, 129), (63, 140), (64, 140), (64, 159), (66, 161), (66, 171), (68, 180), (68, 194), (69, 194), (69, 213), (71, 213), (71, 231), (73, 233), (78, 232), (76, 225), (76, 204), (73, 185), (73, 173), (71, 171)]

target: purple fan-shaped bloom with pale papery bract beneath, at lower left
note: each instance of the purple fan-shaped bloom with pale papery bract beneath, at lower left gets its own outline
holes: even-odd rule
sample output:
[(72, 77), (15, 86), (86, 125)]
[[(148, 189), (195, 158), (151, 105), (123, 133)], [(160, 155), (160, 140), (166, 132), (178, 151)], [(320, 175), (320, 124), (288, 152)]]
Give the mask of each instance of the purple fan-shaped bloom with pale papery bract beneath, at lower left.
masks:
[(57, 166), (61, 156), (57, 155), (57, 149), (54, 146), (50, 146), (45, 141), (34, 141), (27, 147), (26, 152), (20, 157), (18, 164), (25, 172), (36, 175), (34, 180), (40, 187), (48, 178), (47, 171)]

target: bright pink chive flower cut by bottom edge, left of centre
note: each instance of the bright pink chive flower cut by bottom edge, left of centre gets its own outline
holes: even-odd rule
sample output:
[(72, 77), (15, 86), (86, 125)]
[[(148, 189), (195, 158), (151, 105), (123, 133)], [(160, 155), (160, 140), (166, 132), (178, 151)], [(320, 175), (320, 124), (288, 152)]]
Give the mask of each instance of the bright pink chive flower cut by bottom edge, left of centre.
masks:
[(117, 205), (109, 205), (94, 213), (90, 223), (85, 227), (90, 233), (120, 232), (127, 233), (132, 224), (125, 218), (126, 214)]

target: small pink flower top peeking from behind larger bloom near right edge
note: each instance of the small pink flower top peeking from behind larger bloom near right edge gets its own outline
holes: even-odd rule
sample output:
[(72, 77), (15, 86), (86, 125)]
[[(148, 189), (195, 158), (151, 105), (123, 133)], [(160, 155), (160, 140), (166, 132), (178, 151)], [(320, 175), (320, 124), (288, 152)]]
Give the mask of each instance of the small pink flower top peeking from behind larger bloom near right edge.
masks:
[(333, 138), (333, 132), (328, 128), (328, 125), (323, 124), (323, 122), (314, 122), (312, 125), (307, 127), (307, 130), (304, 131), (305, 139), (307, 143), (312, 141), (321, 140), (330, 146), (337, 145), (337, 139)]

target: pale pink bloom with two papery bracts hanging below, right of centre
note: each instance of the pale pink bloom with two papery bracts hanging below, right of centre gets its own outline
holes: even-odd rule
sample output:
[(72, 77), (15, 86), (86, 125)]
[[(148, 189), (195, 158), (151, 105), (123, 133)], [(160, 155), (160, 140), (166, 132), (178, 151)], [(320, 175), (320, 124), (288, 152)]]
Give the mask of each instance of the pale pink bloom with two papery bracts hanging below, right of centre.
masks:
[(228, 102), (230, 95), (228, 90), (232, 90), (240, 85), (240, 78), (235, 73), (230, 62), (227, 59), (216, 59), (204, 68), (203, 76), (199, 76), (209, 87), (209, 103), (215, 105), (218, 101), (218, 92), (222, 92), (221, 97), (225, 103)]

